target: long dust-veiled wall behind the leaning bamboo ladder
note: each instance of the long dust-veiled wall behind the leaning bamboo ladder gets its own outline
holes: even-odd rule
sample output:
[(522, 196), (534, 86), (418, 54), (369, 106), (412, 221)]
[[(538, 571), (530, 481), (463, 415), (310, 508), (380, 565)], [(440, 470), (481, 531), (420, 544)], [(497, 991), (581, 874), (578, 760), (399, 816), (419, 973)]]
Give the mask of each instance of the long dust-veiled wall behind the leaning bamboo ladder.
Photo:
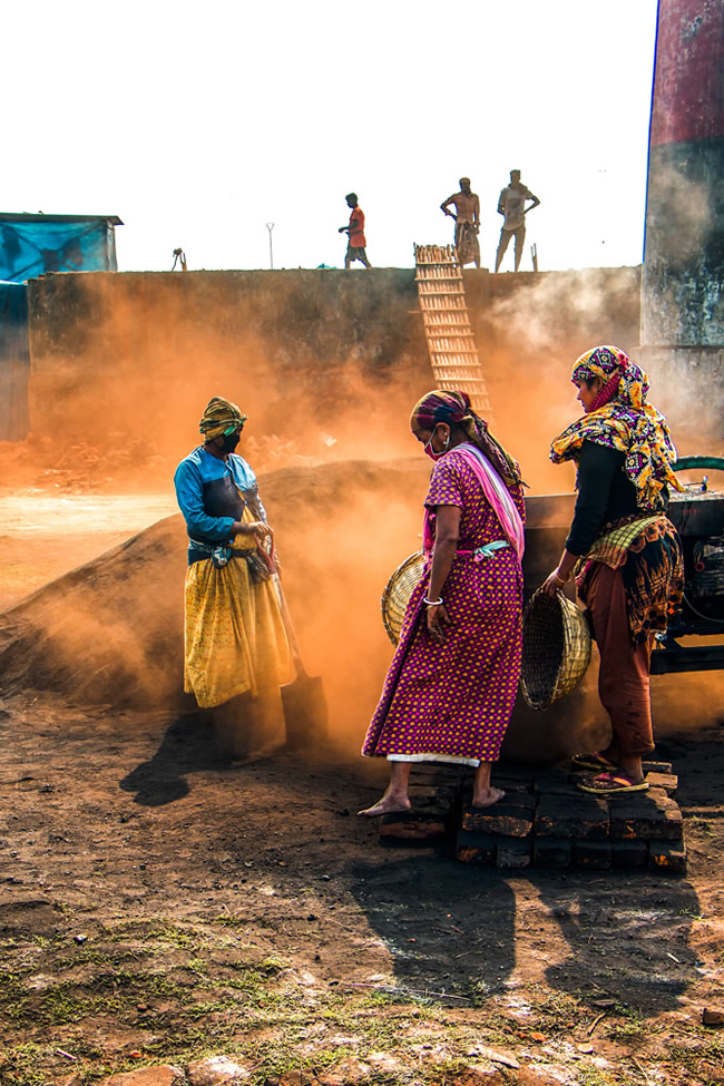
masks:
[[(576, 356), (637, 343), (639, 268), (471, 270), (464, 283), (509, 432), (524, 385), (538, 402), (555, 388), (573, 417)], [(29, 325), (31, 427), (74, 439), (92, 423), (163, 441), (172, 413), (195, 424), (205, 397), (239, 385), (244, 410), (280, 434), (355, 400), (407, 420), (432, 385), (412, 268), (48, 275), (29, 284)], [(558, 419), (546, 425), (552, 436)]]

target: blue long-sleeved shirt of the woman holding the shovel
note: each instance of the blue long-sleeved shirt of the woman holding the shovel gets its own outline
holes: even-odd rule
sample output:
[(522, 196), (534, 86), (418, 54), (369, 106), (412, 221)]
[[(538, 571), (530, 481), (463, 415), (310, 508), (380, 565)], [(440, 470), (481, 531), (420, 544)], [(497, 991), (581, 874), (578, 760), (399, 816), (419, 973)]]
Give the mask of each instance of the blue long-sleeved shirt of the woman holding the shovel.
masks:
[[(235, 452), (229, 453), (227, 460), (221, 460), (207, 452), (204, 446), (198, 446), (176, 468), (174, 476), (176, 500), (184, 515), (189, 536), (219, 544), (228, 540), (234, 518), (209, 517), (204, 509), (204, 483), (223, 479), (224, 476), (231, 476), (242, 491), (256, 487), (256, 476), (246, 460)], [(261, 503), (260, 508), (262, 519), (266, 520)]]

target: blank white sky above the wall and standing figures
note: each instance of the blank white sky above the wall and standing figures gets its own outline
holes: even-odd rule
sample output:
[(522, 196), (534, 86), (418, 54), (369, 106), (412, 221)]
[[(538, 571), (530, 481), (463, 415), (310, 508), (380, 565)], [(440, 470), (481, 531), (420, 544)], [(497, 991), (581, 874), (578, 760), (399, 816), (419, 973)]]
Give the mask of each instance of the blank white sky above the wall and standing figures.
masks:
[(176, 246), (189, 270), (268, 267), (267, 222), (275, 267), (343, 266), (350, 190), (372, 264), (409, 267), (413, 242), (451, 241), (439, 205), (463, 175), (491, 266), (512, 168), (541, 200), (541, 270), (640, 263), (656, 0), (0, 0), (0, 212), (119, 215), (120, 271), (169, 270)]

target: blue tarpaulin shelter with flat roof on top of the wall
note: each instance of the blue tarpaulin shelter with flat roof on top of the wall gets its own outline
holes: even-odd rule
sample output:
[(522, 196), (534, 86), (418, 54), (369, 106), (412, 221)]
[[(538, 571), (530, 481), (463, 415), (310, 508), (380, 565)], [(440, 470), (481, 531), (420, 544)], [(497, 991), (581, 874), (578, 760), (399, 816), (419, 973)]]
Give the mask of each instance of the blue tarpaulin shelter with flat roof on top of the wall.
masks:
[(115, 215), (3, 215), (0, 280), (22, 283), (46, 272), (115, 272)]

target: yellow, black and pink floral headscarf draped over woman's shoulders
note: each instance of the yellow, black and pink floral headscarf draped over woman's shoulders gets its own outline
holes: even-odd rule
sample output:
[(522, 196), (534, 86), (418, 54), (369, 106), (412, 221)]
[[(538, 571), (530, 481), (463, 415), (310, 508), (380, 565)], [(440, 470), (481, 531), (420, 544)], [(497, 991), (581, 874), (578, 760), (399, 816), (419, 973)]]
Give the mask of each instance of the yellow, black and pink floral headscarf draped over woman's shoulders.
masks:
[(571, 381), (600, 378), (604, 387), (588, 412), (554, 441), (554, 463), (578, 460), (584, 441), (626, 454), (624, 470), (636, 487), (640, 509), (666, 507), (667, 490), (684, 490), (672, 464), (676, 448), (666, 419), (646, 403), (648, 378), (616, 346), (597, 346), (577, 360)]

